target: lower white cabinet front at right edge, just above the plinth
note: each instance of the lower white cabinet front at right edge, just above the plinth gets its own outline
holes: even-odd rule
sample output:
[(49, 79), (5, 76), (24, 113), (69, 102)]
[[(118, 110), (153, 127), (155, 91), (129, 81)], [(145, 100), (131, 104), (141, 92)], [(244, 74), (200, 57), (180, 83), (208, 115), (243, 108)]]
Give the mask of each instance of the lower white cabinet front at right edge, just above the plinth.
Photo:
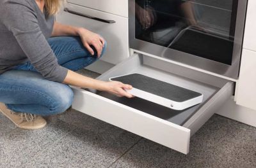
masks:
[(237, 87), (237, 104), (256, 109), (256, 52), (243, 49)]

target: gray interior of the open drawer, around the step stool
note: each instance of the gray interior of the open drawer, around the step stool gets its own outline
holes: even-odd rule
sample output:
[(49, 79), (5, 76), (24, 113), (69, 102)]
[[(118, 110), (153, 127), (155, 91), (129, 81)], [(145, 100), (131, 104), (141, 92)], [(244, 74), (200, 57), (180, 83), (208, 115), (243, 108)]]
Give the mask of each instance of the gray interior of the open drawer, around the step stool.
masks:
[[(223, 81), (220, 81), (218, 85), (210, 85), (209, 83), (202, 82), (206, 80), (192, 80), (187, 78), (186, 76), (179, 76), (177, 74), (173, 74), (167, 71), (163, 71), (161, 69), (157, 69), (156, 67), (149, 66), (148, 64), (145, 64), (146, 62), (148, 62), (148, 60), (145, 59), (150, 58), (143, 57), (143, 55), (135, 55), (127, 59), (123, 63), (119, 64), (118, 66), (113, 67), (113, 69), (109, 70), (107, 73), (102, 74), (101, 76), (99, 76), (98, 79), (108, 81), (109, 78), (114, 76), (120, 76), (130, 73), (139, 73), (145, 76), (150, 76), (151, 78), (155, 78), (157, 80), (177, 85), (179, 87), (184, 87), (188, 88), (189, 90), (199, 92), (204, 95), (203, 102), (191, 108), (177, 111), (166, 108), (159, 104), (155, 104), (154, 102), (150, 102), (145, 99), (140, 99), (138, 97), (128, 99), (125, 97), (116, 97), (115, 95), (108, 94), (107, 92), (97, 92), (97, 94), (102, 97), (111, 99), (112, 101), (119, 102), (131, 108), (143, 111), (144, 113), (156, 116), (157, 118), (161, 118), (168, 122), (172, 122), (177, 125), (184, 125), (184, 123), (186, 123), (189, 118), (191, 118), (191, 116), (193, 116), (196, 111), (198, 111), (198, 109), (204, 106), (205, 102), (209, 101), (209, 99), (211, 99), (211, 97), (216, 94), (221, 89), (221, 87), (223, 87), (220, 84)], [(172, 66), (172, 64), (170, 64), (170, 66)], [(202, 78), (204, 78), (204, 76), (202, 76)]]

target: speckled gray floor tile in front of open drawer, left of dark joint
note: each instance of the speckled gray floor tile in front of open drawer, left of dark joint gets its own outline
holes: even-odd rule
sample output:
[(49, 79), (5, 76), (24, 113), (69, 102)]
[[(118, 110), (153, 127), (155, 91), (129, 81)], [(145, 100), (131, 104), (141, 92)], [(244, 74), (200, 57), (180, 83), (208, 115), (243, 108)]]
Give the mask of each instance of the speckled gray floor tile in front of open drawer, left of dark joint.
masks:
[(108, 167), (139, 139), (90, 117), (83, 129), (74, 129), (31, 162), (37, 163), (36, 167)]

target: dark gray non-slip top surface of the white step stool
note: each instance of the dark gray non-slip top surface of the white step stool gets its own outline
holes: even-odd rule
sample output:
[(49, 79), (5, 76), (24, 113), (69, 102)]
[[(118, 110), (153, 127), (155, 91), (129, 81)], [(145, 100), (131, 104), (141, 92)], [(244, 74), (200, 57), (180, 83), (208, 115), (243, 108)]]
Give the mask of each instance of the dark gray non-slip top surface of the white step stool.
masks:
[(158, 95), (176, 102), (188, 101), (189, 99), (202, 95), (198, 92), (194, 92), (193, 90), (188, 90), (186, 88), (172, 85), (170, 83), (156, 80), (137, 73), (111, 78), (111, 80), (121, 81), (122, 83), (132, 85), (132, 87), (139, 90), (143, 90), (150, 94)]

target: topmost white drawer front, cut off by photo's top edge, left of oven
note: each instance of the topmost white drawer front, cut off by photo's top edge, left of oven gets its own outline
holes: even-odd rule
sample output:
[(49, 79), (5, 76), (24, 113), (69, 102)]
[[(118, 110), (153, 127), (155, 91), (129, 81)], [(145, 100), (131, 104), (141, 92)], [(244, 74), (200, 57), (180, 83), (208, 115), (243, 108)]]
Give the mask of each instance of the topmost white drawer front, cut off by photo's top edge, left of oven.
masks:
[(67, 0), (67, 2), (95, 10), (105, 11), (122, 17), (128, 17), (128, 0)]

